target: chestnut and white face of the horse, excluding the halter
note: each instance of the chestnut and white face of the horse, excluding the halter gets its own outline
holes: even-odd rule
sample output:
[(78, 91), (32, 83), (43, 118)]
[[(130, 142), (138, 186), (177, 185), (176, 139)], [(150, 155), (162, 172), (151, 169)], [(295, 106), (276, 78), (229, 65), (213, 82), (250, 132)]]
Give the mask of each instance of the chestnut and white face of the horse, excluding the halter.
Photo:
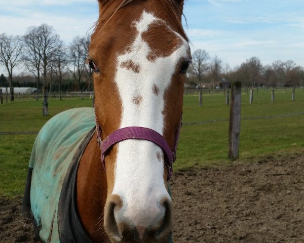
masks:
[[(102, 138), (120, 128), (145, 127), (163, 135), (172, 149), (191, 61), (178, 25), (183, 1), (134, 0), (112, 15), (118, 2), (99, 2), (88, 58), (96, 70), (95, 112)], [(104, 227), (111, 241), (165, 242), (172, 206), (162, 149), (145, 140), (125, 140), (107, 153), (105, 167)]]

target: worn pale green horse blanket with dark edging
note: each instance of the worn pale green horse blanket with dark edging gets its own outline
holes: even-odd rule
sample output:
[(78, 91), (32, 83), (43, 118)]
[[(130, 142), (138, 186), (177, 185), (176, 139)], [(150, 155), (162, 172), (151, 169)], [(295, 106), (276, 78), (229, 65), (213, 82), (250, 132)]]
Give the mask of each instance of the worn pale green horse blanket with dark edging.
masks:
[(94, 132), (94, 109), (77, 108), (52, 117), (35, 139), (23, 211), (43, 242), (91, 242), (77, 215), (75, 181)]

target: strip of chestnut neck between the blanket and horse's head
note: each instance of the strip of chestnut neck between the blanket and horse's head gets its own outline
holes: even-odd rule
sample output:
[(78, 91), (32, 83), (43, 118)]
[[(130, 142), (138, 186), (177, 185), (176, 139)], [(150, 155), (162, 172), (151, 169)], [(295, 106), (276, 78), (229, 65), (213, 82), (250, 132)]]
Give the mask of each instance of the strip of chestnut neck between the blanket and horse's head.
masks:
[(104, 242), (103, 211), (107, 194), (96, 133), (86, 147), (77, 173), (77, 207), (81, 222), (93, 242)]

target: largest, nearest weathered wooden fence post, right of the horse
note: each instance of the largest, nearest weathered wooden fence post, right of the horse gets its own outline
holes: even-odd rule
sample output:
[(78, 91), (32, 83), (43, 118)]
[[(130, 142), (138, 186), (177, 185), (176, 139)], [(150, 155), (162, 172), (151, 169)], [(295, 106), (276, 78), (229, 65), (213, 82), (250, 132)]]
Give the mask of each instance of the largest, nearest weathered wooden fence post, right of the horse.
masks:
[(231, 89), (231, 106), (229, 118), (228, 158), (235, 161), (239, 157), (239, 138), (241, 130), (241, 91), (242, 83), (234, 82)]

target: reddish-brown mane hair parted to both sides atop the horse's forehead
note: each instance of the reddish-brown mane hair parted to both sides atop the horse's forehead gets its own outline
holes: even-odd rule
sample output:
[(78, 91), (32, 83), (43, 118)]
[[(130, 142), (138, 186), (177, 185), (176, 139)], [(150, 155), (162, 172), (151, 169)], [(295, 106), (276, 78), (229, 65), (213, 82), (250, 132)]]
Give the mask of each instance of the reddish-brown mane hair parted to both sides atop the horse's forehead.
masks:
[[(101, 28), (103, 28), (109, 22), (109, 20), (117, 13), (118, 10), (131, 4), (134, 1), (135, 0), (122, 0), (122, 1), (106, 0), (102, 6), (103, 14), (99, 14), (99, 18), (93, 26), (94, 31), (96, 30), (97, 26), (100, 23), (104, 23), (103, 26), (101, 27)], [(186, 17), (182, 13), (182, 7), (180, 5), (178, 5), (175, 0), (160, 0), (160, 2), (165, 7), (165, 9), (168, 11), (171, 18), (174, 20), (174, 22), (176, 23), (182, 37), (185, 38), (186, 41), (188, 42), (189, 41), (188, 36), (185, 33), (182, 23), (181, 23), (181, 19), (179, 18), (179, 14), (181, 14), (181, 16), (184, 17), (184, 19), (186, 21)], [(101, 13), (100, 8), (101, 7), (99, 5), (99, 13)]]

